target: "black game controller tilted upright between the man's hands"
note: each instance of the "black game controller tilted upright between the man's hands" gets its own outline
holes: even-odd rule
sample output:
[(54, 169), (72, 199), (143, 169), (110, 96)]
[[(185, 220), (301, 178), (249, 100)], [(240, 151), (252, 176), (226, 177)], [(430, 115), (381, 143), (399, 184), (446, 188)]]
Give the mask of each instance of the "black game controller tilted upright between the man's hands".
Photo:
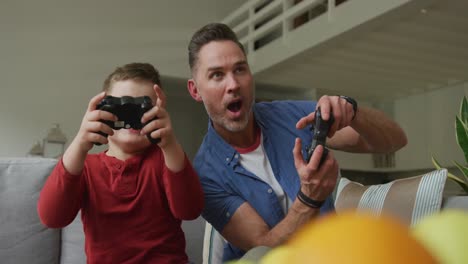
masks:
[(328, 121), (325, 121), (322, 119), (322, 113), (320, 112), (320, 107), (315, 111), (315, 124), (312, 126), (312, 129), (314, 132), (313, 137), (312, 137), (312, 143), (310, 144), (310, 147), (307, 148), (307, 159), (306, 161), (309, 162), (310, 158), (312, 157), (312, 154), (314, 153), (315, 148), (317, 148), (318, 145), (323, 146), (323, 154), (322, 157), (320, 158), (320, 163), (319, 163), (319, 168), (322, 165), (322, 163), (325, 161), (328, 155), (328, 149), (325, 147), (325, 142), (327, 140), (327, 135), (328, 131), (330, 130), (330, 127), (333, 125), (333, 122), (335, 121), (335, 118), (332, 115), (332, 112), (330, 112), (330, 117)]

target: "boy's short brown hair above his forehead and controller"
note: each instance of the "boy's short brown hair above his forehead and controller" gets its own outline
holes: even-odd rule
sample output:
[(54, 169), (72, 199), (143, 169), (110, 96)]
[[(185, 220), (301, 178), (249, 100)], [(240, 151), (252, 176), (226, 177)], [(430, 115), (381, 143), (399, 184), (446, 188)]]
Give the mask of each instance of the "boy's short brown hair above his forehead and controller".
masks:
[(125, 80), (148, 81), (161, 87), (159, 72), (153, 65), (150, 63), (135, 62), (117, 67), (111, 74), (109, 74), (109, 76), (107, 76), (102, 90), (109, 92), (114, 83)]

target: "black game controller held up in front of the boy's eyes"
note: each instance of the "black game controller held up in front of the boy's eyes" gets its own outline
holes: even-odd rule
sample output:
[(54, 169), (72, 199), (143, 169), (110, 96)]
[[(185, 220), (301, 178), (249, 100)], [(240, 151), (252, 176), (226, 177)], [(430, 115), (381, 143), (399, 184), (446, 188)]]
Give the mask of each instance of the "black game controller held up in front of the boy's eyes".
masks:
[[(104, 110), (110, 112), (117, 116), (117, 121), (109, 121), (109, 120), (100, 120), (101, 122), (107, 124), (114, 130), (122, 129), (122, 128), (133, 128), (133, 129), (141, 129), (146, 124), (141, 123), (141, 117), (145, 112), (150, 110), (153, 107), (151, 102), (151, 98), (149, 96), (142, 96), (142, 97), (131, 97), (131, 96), (122, 96), (122, 97), (114, 97), (114, 96), (106, 96), (104, 99), (99, 102), (96, 106), (96, 109)], [(154, 120), (154, 119), (153, 119)], [(149, 122), (151, 122), (150, 120)], [(98, 132), (99, 134), (106, 136), (107, 135), (103, 132)], [(160, 138), (152, 138), (150, 134), (146, 135), (149, 141), (153, 144), (157, 144), (161, 141)], [(96, 145), (101, 145), (99, 143), (95, 143)]]

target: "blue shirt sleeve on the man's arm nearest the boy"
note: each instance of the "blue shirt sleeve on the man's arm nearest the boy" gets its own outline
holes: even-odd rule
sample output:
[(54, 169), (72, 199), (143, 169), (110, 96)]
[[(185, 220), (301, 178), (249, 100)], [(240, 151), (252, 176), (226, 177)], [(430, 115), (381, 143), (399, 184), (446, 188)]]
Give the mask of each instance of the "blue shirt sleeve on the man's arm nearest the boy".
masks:
[(224, 190), (210, 178), (202, 178), (202, 186), (205, 193), (205, 209), (202, 216), (221, 233), (236, 210), (246, 201)]

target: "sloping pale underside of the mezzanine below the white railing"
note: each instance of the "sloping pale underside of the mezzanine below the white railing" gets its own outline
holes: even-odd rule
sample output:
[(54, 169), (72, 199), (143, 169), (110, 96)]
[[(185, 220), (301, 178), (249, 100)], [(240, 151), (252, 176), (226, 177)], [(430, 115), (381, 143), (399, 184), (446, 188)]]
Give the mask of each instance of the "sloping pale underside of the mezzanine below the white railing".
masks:
[(467, 81), (468, 1), (411, 2), (257, 73), (257, 81), (369, 102)]

